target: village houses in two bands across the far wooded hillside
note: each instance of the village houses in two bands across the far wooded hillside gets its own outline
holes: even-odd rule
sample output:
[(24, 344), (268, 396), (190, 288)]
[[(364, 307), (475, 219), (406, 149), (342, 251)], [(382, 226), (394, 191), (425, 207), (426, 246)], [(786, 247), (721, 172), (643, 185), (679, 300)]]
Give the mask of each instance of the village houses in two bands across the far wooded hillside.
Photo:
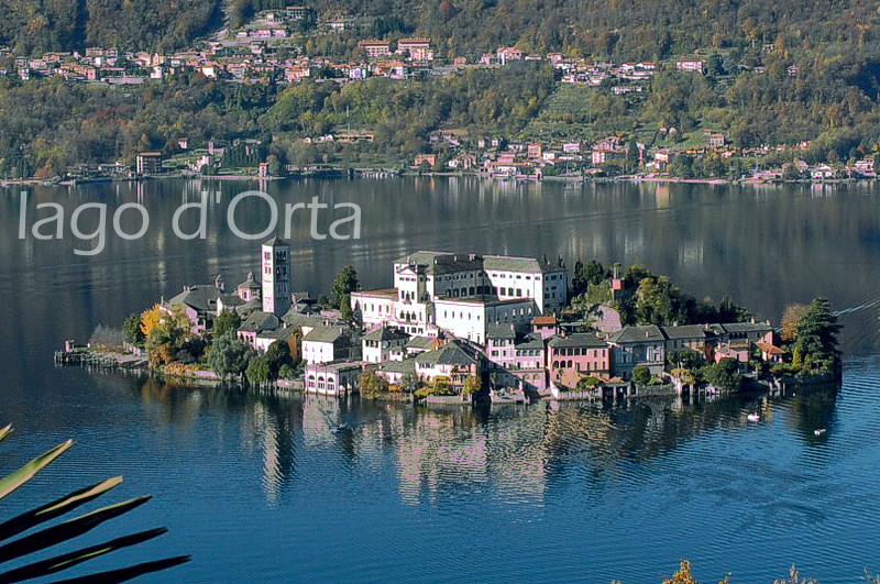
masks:
[[(142, 86), (166, 84), (178, 74), (200, 75), (224, 84), (289, 86), (306, 81), (356, 84), (370, 78), (385, 77), (402, 84), (414, 79), (457, 75), (466, 69), (496, 69), (524, 62), (549, 64), (561, 86), (596, 88), (609, 96), (637, 96), (649, 93), (651, 80), (662, 68), (705, 76), (717, 64), (711, 56), (685, 55), (678, 59), (656, 63), (603, 63), (586, 58), (572, 58), (562, 53), (531, 54), (516, 47), (501, 46), (479, 59), (466, 57), (443, 58), (430, 40), (399, 37), (392, 40), (361, 38), (356, 48), (343, 56), (319, 54), (311, 41), (358, 30), (355, 19), (344, 14), (319, 16), (312, 9), (290, 5), (284, 10), (264, 11), (241, 29), (224, 29), (188, 51), (173, 54), (123, 52), (112, 47), (90, 47), (82, 52), (44, 53), (29, 58), (0, 47), (0, 76), (20, 81), (58, 77), (70, 82), (109, 86)], [(766, 44), (768, 53), (776, 51)], [(336, 51), (339, 53), (339, 51)], [(717, 55), (715, 55), (717, 57)], [(8, 63), (8, 65), (2, 65)], [(765, 74), (765, 67), (738, 64), (739, 74)], [(787, 75), (796, 77), (799, 69), (790, 66)], [(573, 129), (573, 128), (572, 128)], [(739, 147), (717, 128), (707, 128), (702, 139), (691, 136), (679, 143), (681, 129), (660, 126), (644, 142), (618, 132), (605, 136), (584, 136), (574, 132), (569, 136), (527, 136), (527, 140), (504, 135), (471, 135), (461, 130), (437, 130), (429, 136), (430, 152), (416, 155), (404, 167), (421, 172), (475, 172), (505, 178), (543, 178), (544, 176), (639, 175), (648, 178), (674, 176), (695, 178), (701, 173), (692, 169), (694, 161), (702, 161), (708, 169), (703, 178), (727, 178), (754, 181), (781, 179), (835, 180), (843, 178), (875, 178), (875, 157), (870, 155), (807, 164), (803, 154), (810, 142), (800, 144), (765, 144)], [(248, 139), (248, 140), (245, 140)], [(356, 147), (372, 144), (376, 134), (371, 128), (346, 126), (330, 133), (300, 137), (305, 145), (344, 144)], [(241, 143), (241, 146), (240, 146)], [(230, 147), (227, 147), (230, 146)], [(174, 168), (193, 173), (216, 174), (242, 167), (252, 168), (261, 176), (283, 176), (304, 170), (297, 165), (266, 165), (265, 153), (252, 159), (251, 150), (260, 150), (260, 140), (242, 135), (233, 144), (219, 141), (206, 144), (175, 141), (175, 151), (183, 154), (185, 164)], [(241, 155), (244, 148), (245, 154)], [(224, 156), (224, 151), (229, 155)], [(238, 153), (237, 156), (232, 154)], [(88, 165), (68, 169), (66, 177), (150, 176), (168, 170), (168, 152), (142, 152), (134, 168), (117, 161), (107, 161), (100, 167)], [(681, 164), (674, 164), (679, 157)], [(789, 162), (762, 165), (760, 161), (780, 157)], [(727, 169), (725, 161), (743, 159), (745, 165)], [(142, 164), (142, 161), (147, 161)], [(395, 168), (399, 170), (400, 167)]]

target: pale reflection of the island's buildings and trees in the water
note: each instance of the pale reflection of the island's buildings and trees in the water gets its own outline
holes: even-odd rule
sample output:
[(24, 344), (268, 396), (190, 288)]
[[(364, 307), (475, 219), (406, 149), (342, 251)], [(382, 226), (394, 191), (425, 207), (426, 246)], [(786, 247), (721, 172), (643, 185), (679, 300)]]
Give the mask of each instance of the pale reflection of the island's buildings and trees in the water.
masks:
[[(241, 448), (262, 460), (261, 483), (270, 505), (296, 488), (298, 459), (331, 475), (348, 469), (394, 477), (408, 505), (433, 504), (462, 492), (540, 502), (553, 476), (573, 472), (586, 477), (586, 486), (617, 480), (622, 464), (663, 455), (704, 431), (757, 430), (780, 409), (787, 411), (787, 427), (804, 440), (827, 440), (837, 393), (816, 388), (711, 400), (542, 401), (432, 410), (358, 398), (179, 388), (155, 379), (140, 384), (145, 410), (160, 406), (160, 420), (178, 429), (193, 431), (206, 412), (223, 430), (232, 427), (231, 416), (238, 418)], [(748, 414), (759, 414), (760, 421), (749, 421)]]

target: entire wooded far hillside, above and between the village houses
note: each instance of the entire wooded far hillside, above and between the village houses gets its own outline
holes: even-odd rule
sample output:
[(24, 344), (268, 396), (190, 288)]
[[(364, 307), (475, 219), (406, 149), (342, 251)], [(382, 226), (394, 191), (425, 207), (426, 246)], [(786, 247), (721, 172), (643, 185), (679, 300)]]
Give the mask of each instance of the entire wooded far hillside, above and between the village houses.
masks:
[[(285, 0), (0, 0), (0, 45), (14, 55), (117, 46), (189, 48), (224, 19), (245, 22)], [(358, 57), (359, 38), (429, 36), (438, 57), (473, 59), (502, 45), (607, 59), (672, 59), (698, 49), (705, 75), (661, 66), (642, 93), (559, 84), (549, 65), (520, 63), (406, 81), (337, 85), (338, 71), (285, 88), (178, 73), (142, 87), (0, 79), (0, 176), (41, 176), (77, 162), (170, 153), (177, 140), (261, 137), (282, 163), (403, 161), (443, 147), (435, 130), (508, 140), (592, 140), (686, 146), (703, 131), (739, 147), (811, 141), (800, 157), (837, 162), (880, 153), (880, 10), (862, 0), (767, 3), (666, 0), (315, 0), (321, 18), (348, 14), (342, 33), (299, 31), (307, 54)], [(544, 62), (546, 63), (546, 62)], [(675, 128), (676, 134), (661, 134)], [(346, 129), (372, 144), (305, 147)], [(270, 146), (271, 144), (271, 146)], [(267, 150), (268, 153), (268, 150)], [(791, 155), (779, 155), (779, 157)], [(773, 155), (770, 156), (772, 158)], [(748, 159), (679, 156), (679, 176), (738, 177)], [(769, 161), (774, 162), (774, 161)], [(776, 162), (785, 162), (784, 159)]]

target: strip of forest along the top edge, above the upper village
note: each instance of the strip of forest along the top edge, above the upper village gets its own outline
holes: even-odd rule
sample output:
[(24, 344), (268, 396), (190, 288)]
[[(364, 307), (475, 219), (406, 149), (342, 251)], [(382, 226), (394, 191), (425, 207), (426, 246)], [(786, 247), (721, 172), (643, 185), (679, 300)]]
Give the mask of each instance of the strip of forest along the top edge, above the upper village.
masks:
[[(97, 44), (174, 49), (284, 0), (0, 0), (0, 44), (20, 52)], [(880, 14), (867, 0), (314, 0), (319, 15), (365, 16), (377, 35), (428, 36), (443, 56), (475, 57), (499, 45), (581, 56), (662, 58), (702, 47), (778, 43), (793, 49), (876, 41)]]

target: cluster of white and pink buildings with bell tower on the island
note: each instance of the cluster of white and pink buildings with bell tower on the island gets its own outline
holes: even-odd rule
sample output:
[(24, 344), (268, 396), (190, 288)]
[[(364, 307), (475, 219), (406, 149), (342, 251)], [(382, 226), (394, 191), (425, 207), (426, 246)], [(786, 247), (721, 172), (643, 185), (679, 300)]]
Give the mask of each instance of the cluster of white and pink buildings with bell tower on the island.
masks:
[[(651, 384), (693, 388), (670, 374), (688, 359), (681, 352), (727, 359), (743, 372), (784, 354), (769, 322), (625, 327), (608, 307), (595, 321), (576, 320), (566, 310), (564, 265), (528, 257), (416, 252), (389, 266), (393, 288), (351, 291), (350, 311), (320, 310), (292, 291), (289, 252), (272, 239), (261, 246), (261, 280), (249, 274), (232, 290), (221, 277), (188, 286), (162, 310), (185, 313), (196, 334), (238, 312), (235, 335), (255, 354), (289, 345), (305, 364), (305, 390), (332, 396), (359, 392), (364, 372), (392, 390), (453, 400), (480, 387), (493, 397), (626, 396), (646, 389), (634, 383), (637, 368)], [(619, 278), (613, 286), (625, 294)]]

